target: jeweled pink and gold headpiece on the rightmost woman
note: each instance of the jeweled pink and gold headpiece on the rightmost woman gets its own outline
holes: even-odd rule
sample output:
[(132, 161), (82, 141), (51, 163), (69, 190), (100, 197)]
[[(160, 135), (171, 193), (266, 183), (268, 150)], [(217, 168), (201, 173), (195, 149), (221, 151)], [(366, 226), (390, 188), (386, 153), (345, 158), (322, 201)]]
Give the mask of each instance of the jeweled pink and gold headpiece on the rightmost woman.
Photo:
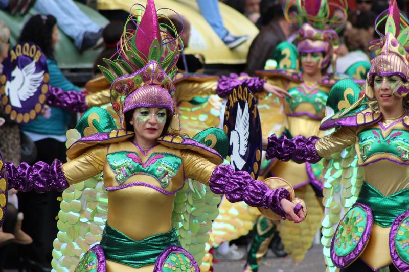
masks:
[[(385, 23), (384, 34), (379, 26)], [(399, 10), (396, 0), (389, 5), (389, 9), (381, 13), (375, 21), (375, 29), (380, 39), (371, 42), (370, 50), (375, 51), (375, 58), (371, 61), (371, 69), (367, 76), (365, 94), (368, 98), (374, 97), (373, 85), (375, 75), (400, 76), (405, 82), (409, 81), (409, 20)], [(409, 84), (402, 83), (394, 94), (404, 97), (409, 93)]]

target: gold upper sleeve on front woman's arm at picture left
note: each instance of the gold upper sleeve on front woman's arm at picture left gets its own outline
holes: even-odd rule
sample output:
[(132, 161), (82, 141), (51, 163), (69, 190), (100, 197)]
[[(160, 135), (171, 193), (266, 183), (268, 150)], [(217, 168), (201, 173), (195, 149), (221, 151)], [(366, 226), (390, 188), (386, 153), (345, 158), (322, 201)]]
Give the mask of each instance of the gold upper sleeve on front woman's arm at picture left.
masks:
[(107, 146), (97, 145), (64, 163), (62, 171), (69, 184), (78, 183), (103, 171)]

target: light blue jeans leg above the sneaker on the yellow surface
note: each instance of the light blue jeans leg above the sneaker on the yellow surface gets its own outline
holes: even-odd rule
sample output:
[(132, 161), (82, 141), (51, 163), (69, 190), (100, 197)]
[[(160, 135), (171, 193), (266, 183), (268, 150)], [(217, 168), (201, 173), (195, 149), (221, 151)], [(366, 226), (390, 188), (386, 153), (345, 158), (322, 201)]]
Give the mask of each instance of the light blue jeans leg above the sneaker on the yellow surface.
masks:
[(213, 31), (216, 32), (220, 39), (223, 39), (229, 32), (223, 24), (220, 15), (218, 0), (196, 0), (199, 5), (200, 13), (208, 21)]

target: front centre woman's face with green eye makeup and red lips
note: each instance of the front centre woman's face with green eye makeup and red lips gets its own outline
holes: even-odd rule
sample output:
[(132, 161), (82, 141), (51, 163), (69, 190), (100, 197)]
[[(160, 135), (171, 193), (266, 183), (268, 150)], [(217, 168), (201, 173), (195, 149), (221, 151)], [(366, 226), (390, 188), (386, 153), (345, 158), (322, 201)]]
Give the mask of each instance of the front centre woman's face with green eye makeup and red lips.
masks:
[(166, 118), (165, 108), (141, 107), (135, 109), (130, 123), (137, 137), (156, 140), (163, 132)]

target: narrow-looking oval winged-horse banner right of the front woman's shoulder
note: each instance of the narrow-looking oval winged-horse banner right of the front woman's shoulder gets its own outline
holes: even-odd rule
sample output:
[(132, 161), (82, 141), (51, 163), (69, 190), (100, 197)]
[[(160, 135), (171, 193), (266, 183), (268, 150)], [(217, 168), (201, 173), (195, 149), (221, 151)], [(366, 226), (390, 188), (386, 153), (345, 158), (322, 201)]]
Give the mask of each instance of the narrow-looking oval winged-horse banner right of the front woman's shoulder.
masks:
[(256, 100), (251, 91), (239, 86), (229, 95), (223, 130), (229, 138), (230, 164), (257, 179), (260, 170), (262, 134)]

